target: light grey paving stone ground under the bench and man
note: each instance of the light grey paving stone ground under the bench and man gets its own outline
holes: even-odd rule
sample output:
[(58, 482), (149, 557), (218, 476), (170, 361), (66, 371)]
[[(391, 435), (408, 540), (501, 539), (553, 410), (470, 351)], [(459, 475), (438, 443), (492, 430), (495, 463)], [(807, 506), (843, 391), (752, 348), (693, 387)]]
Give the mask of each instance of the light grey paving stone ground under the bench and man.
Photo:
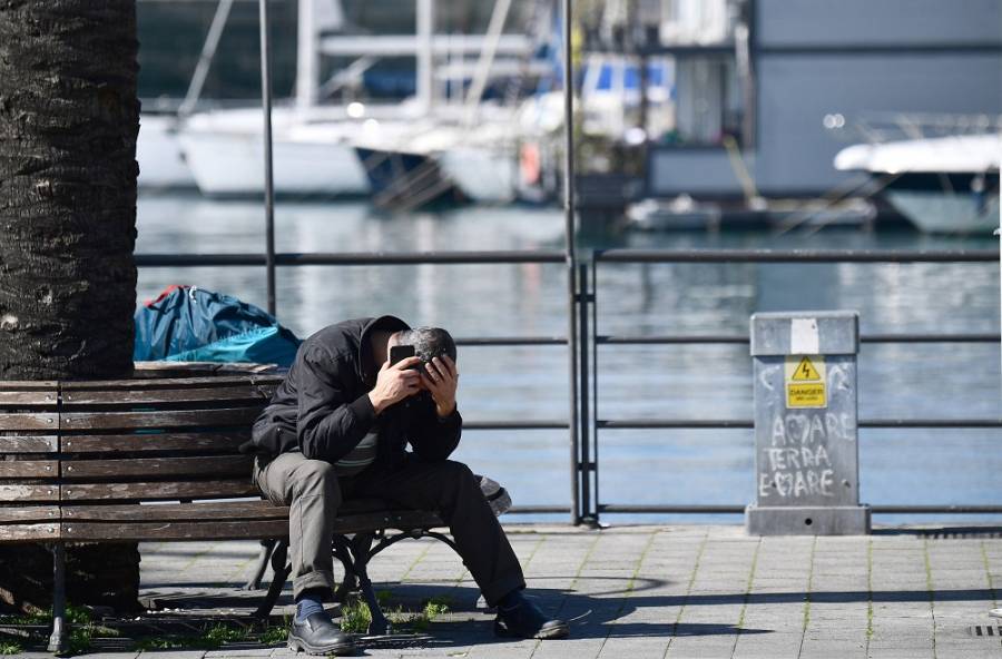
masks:
[[(373, 560), (391, 606), (431, 597), (451, 611), (423, 639), (369, 645), (372, 657), (999, 658), (998, 532), (942, 537), (878, 529), (868, 537), (757, 538), (740, 527), (509, 525), (530, 593), (569, 620), (561, 641), (499, 640), (459, 558), (434, 540), (400, 542)], [(998, 530), (995, 530), (998, 531)], [(144, 544), (143, 593), (185, 616), (239, 617), (263, 592), (237, 590), (253, 542)], [(288, 613), (286, 589), (277, 612)], [(165, 612), (174, 616), (179, 612)], [(982, 635), (988, 628), (993, 636)], [(284, 646), (114, 657), (292, 657)], [(95, 657), (96, 655), (89, 655)], [(109, 655), (106, 655), (109, 656)]]

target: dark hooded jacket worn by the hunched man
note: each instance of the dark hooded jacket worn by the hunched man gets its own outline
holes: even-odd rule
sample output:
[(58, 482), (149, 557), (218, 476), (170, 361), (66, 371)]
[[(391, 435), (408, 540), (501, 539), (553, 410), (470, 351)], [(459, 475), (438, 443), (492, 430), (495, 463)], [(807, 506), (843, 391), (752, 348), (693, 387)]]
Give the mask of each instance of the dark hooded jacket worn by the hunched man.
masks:
[[(370, 337), (376, 331), (407, 328), (400, 318), (381, 316), (337, 323), (307, 338), (240, 449), (265, 460), (301, 451), (310, 459), (337, 462), (376, 423), (369, 392), (379, 368)], [(431, 396), (422, 392), (379, 416), (376, 462), (396, 462), (407, 442), (423, 459), (445, 460), (459, 444), (461, 429), (458, 411), (439, 419)]]

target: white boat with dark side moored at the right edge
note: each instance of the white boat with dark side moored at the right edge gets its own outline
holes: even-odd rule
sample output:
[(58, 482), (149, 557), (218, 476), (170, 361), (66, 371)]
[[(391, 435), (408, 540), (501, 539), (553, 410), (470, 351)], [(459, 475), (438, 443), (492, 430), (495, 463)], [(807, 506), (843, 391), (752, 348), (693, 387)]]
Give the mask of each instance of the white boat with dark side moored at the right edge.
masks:
[(955, 135), (853, 145), (842, 171), (867, 171), (883, 196), (926, 233), (991, 233), (999, 227), (1002, 135)]

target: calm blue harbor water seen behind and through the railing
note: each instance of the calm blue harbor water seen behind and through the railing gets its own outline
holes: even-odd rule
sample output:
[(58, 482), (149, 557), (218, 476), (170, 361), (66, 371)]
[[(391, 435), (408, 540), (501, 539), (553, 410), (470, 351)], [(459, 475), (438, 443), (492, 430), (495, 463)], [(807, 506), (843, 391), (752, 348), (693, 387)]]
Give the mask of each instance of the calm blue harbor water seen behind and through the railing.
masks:
[[(144, 195), (137, 253), (262, 253), (259, 201)], [(278, 252), (560, 249), (557, 208), (466, 207), (390, 215), (367, 203), (279, 203)], [(596, 247), (991, 248), (984, 236), (826, 228), (625, 234)], [(266, 305), (262, 267), (141, 268), (139, 301), (190, 284)], [(344, 318), (394, 314), (458, 337), (564, 336), (562, 264), (307, 266), (277, 274), (279, 321), (299, 336)], [(603, 264), (598, 333), (747, 334), (755, 312), (854, 309), (873, 333), (999, 333), (999, 265)], [(567, 348), (460, 351), (468, 421), (566, 420)], [(599, 419), (750, 419), (746, 345), (602, 345)], [(1000, 347), (864, 344), (861, 419), (999, 419)], [(566, 430), (468, 431), (456, 458), (503, 482), (517, 505), (570, 504)], [(861, 500), (873, 504), (995, 504), (999, 429), (859, 432)], [(609, 504), (735, 504), (755, 496), (750, 430), (602, 430), (599, 500)], [(527, 517), (528, 519), (567, 519)], [(878, 515), (876, 522), (998, 521), (998, 515)], [(603, 522), (739, 521), (737, 515), (608, 515)]]

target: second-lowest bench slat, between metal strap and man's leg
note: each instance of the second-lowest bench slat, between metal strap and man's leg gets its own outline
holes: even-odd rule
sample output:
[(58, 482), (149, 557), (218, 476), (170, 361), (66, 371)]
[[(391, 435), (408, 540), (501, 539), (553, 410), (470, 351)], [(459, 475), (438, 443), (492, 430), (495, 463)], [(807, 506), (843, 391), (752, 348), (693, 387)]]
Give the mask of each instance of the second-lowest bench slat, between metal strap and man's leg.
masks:
[(269, 501), (225, 503), (163, 503), (153, 505), (63, 505), (65, 520), (100, 522), (164, 522), (195, 520), (286, 520), (288, 508)]

